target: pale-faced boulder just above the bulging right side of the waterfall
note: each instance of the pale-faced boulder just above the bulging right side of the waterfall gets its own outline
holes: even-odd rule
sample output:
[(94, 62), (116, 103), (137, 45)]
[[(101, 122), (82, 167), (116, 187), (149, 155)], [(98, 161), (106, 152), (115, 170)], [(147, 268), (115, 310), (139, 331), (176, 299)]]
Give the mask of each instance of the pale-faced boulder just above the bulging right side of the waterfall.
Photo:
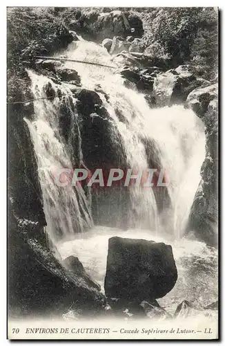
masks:
[(190, 91), (202, 85), (202, 80), (195, 78), (188, 71), (188, 66), (179, 66), (157, 75), (153, 93), (159, 107), (184, 103)]

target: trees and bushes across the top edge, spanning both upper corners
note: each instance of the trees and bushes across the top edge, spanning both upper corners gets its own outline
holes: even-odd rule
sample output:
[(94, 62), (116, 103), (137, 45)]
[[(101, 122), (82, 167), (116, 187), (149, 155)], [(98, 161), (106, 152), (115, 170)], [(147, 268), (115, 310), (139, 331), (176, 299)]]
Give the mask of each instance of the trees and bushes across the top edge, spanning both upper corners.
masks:
[(25, 61), (54, 53), (72, 41), (67, 28), (71, 21), (82, 34), (97, 33), (99, 13), (111, 10), (132, 13), (134, 23), (142, 20), (140, 44), (145, 53), (177, 66), (191, 64), (206, 79), (215, 77), (218, 12), (214, 8), (8, 8), (9, 92), (14, 95), (17, 86), (26, 84)]

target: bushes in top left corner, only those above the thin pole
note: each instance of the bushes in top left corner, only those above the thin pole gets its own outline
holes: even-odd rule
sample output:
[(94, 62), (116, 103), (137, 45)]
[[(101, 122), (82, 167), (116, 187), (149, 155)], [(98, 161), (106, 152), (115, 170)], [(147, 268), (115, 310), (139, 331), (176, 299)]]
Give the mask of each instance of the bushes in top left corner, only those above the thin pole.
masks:
[(63, 48), (71, 37), (54, 8), (8, 9), (8, 66), (31, 55)]

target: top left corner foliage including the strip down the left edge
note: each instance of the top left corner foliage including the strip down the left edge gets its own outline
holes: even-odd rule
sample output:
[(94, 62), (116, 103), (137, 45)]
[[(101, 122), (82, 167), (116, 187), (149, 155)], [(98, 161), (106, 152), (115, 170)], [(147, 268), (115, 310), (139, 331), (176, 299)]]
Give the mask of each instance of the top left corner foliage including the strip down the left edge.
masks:
[(8, 97), (21, 99), (28, 76), (25, 62), (48, 55), (72, 41), (54, 8), (8, 8)]

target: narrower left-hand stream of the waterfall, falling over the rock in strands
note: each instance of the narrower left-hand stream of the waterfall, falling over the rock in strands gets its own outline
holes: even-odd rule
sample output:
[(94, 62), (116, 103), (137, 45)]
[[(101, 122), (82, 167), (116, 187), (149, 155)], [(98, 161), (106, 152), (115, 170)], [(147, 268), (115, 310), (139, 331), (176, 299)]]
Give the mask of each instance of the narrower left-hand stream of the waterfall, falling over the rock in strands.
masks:
[[(28, 71), (35, 99), (35, 120), (24, 119), (37, 155), (39, 180), (43, 194), (43, 209), (48, 224), (48, 234), (57, 242), (92, 226), (88, 202), (81, 186), (58, 186), (55, 178), (62, 168), (72, 169), (70, 146), (59, 133), (59, 100), (48, 101), (43, 94), (46, 77)], [(56, 91), (57, 87), (55, 86)], [(64, 89), (67, 96), (70, 91)], [(66, 98), (68, 100), (68, 98)]]

